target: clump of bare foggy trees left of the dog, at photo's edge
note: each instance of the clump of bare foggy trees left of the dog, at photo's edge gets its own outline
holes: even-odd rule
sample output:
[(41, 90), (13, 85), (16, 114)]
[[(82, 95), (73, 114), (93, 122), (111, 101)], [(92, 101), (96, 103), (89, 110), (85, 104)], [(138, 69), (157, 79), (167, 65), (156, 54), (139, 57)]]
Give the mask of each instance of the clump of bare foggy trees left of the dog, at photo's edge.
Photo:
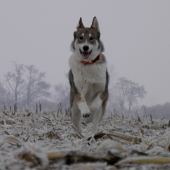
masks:
[(0, 104), (31, 107), (41, 98), (51, 96), (51, 85), (45, 81), (45, 72), (40, 72), (34, 65), (13, 63), (13, 70), (4, 75), (0, 83)]

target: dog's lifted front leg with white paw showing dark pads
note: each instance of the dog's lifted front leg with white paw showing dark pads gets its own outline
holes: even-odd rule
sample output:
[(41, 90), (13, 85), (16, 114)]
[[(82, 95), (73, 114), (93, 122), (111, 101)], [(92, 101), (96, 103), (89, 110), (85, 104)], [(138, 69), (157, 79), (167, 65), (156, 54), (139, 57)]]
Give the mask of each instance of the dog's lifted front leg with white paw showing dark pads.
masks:
[(87, 106), (87, 103), (81, 93), (77, 93), (74, 97), (75, 102), (77, 103), (78, 109), (81, 112), (81, 115), (85, 118), (91, 115), (91, 112)]

